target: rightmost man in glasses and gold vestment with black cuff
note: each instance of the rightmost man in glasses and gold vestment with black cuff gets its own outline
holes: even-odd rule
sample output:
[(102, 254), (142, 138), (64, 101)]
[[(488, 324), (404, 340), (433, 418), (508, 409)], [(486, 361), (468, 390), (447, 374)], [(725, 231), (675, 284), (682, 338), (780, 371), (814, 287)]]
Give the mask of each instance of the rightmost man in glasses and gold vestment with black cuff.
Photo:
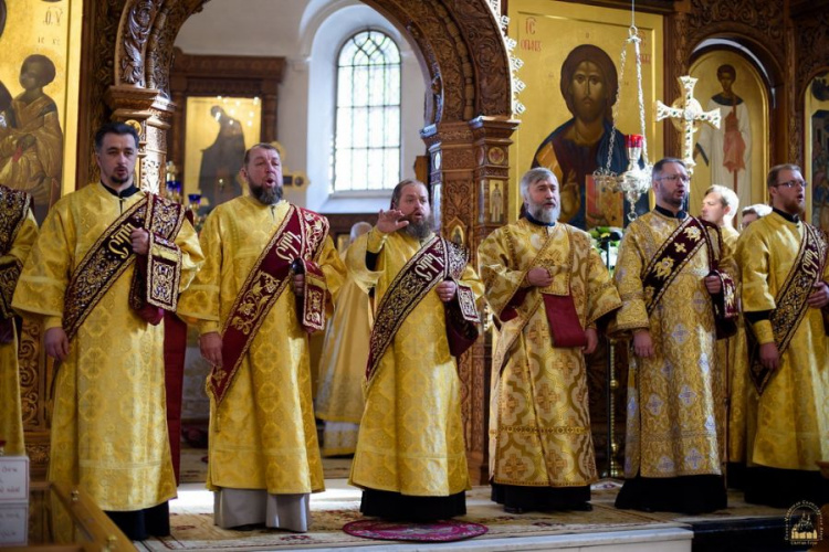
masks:
[(747, 502), (788, 508), (829, 502), (816, 460), (829, 458), (827, 241), (800, 220), (806, 182), (780, 164), (766, 180), (772, 214), (739, 240), (743, 311), (756, 341), (749, 367)]

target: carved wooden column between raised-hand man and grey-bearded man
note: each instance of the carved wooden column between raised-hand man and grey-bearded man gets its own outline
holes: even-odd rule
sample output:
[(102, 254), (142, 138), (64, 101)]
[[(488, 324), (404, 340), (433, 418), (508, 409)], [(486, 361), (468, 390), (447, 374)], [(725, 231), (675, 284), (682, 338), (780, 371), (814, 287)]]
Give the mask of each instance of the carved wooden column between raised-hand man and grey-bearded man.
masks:
[[(431, 156), (431, 190), (441, 233), (461, 236), (478, 265), (478, 245), (506, 222), (510, 136), (518, 123), (504, 117), (432, 125), (422, 136)], [(489, 481), (492, 335), (459, 362), (466, 457), (473, 484)]]

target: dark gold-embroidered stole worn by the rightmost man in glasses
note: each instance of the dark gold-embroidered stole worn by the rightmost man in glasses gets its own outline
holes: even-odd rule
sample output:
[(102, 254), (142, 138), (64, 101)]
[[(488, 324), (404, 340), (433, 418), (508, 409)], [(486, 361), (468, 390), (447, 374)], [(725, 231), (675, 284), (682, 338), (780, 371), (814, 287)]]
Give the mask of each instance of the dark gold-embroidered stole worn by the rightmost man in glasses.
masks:
[[(775, 308), (770, 316), (772, 331), (774, 332), (777, 352), (783, 353), (788, 349), (795, 331), (806, 317), (809, 305), (806, 302), (811, 295), (815, 284), (823, 276), (827, 255), (827, 237), (820, 229), (801, 223), (804, 225), (804, 238), (797, 252), (791, 269), (786, 275), (783, 286), (775, 297)], [(759, 343), (754, 335), (752, 325), (747, 323), (746, 339), (748, 340), (748, 373), (754, 386), (759, 394), (766, 389), (774, 372), (765, 368), (759, 361)]]

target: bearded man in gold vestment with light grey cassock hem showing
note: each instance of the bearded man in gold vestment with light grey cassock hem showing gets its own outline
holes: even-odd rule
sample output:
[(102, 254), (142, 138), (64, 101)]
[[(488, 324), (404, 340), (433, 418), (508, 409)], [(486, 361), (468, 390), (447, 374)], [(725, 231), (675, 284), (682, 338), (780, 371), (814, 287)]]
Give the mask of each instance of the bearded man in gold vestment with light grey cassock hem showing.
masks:
[(328, 221), (282, 201), (273, 146), (249, 149), (241, 172), (251, 194), (208, 216), (207, 261), (179, 307), (213, 367), (207, 484), (218, 526), (304, 532), (308, 493), (324, 490), (308, 333), (325, 327), (345, 266)]

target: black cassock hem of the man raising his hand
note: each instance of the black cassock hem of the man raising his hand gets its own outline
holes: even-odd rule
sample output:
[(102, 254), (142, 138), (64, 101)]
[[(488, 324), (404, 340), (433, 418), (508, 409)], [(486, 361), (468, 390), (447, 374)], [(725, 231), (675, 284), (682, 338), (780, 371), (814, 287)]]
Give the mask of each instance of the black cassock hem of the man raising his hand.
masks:
[(364, 489), (364, 516), (389, 521), (437, 521), (466, 513), (466, 491), (448, 497), (414, 497), (387, 490)]

